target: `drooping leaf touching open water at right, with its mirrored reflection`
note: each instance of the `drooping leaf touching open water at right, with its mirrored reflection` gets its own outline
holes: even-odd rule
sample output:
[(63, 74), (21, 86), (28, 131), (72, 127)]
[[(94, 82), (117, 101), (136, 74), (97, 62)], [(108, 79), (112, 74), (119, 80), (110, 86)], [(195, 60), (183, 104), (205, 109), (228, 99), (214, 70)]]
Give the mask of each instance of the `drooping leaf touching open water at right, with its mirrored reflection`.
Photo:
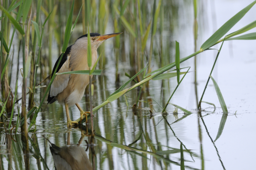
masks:
[(219, 98), (219, 102), (220, 102), (220, 106), (221, 106), (221, 109), (223, 110), (223, 115), (222, 115), (222, 118), (221, 118), (221, 121), (220, 121), (220, 126), (219, 126), (219, 130), (218, 130), (218, 133), (217, 133), (217, 136), (216, 136), (216, 139), (214, 140), (214, 142), (219, 139), (223, 129), (224, 129), (224, 126), (225, 126), (225, 123), (226, 123), (226, 120), (227, 120), (227, 114), (228, 114), (228, 111), (227, 111), (227, 106), (226, 106), (226, 103), (223, 99), (223, 96), (220, 92), (220, 88), (219, 86), (217, 85), (216, 81), (213, 79), (212, 76), (211, 77), (211, 80), (213, 81), (213, 85), (214, 85), (214, 88), (217, 92), (217, 96)]

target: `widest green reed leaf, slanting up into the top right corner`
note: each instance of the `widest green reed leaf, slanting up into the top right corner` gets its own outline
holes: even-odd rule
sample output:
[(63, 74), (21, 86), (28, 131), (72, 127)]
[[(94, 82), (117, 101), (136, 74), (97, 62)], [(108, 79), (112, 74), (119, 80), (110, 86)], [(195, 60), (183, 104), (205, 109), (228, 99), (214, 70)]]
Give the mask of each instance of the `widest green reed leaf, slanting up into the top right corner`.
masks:
[(215, 44), (223, 35), (225, 35), (256, 3), (256, 0), (249, 4), (247, 7), (243, 8), (239, 13), (230, 18), (223, 26), (219, 28), (211, 37), (204, 42), (201, 49), (206, 50)]

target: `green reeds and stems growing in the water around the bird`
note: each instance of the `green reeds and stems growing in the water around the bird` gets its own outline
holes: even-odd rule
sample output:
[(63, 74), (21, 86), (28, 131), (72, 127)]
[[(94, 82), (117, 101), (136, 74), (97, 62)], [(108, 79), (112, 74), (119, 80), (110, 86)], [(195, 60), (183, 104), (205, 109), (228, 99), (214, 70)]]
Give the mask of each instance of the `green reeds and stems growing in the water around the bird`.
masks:
[[(212, 80), (220, 101), (221, 108), (223, 110), (223, 117), (220, 122), (216, 139), (213, 141), (214, 143), (221, 136), (221, 133), (224, 129), (228, 110), (220, 88), (218, 87), (211, 74), (213, 72), (224, 41), (256, 39), (256, 33), (240, 35), (246, 31), (251, 30), (252, 28), (255, 28), (256, 21), (253, 21), (240, 30), (235, 31), (234, 33), (226, 35), (229, 30), (247, 13), (247, 11), (249, 11), (254, 6), (256, 1), (253, 1), (247, 7), (239, 11), (235, 16), (230, 18), (230, 20), (221, 26), (213, 35), (211, 35), (208, 40), (206, 40), (201, 45), (200, 49), (197, 47), (197, 3), (197, 0), (193, 1), (194, 53), (187, 57), (180, 57), (179, 43), (177, 41), (175, 42), (175, 52), (173, 52), (169, 50), (169, 48), (172, 45), (171, 43), (174, 44), (174, 42), (164, 41), (166, 32), (171, 35), (174, 27), (173, 23), (176, 22), (175, 19), (170, 19), (175, 18), (175, 15), (177, 15), (177, 13), (175, 13), (175, 1), (170, 2), (168, 0), (152, 0), (150, 3), (148, 3), (146, 0), (68, 0), (65, 2), (60, 0), (3, 0), (0, 6), (0, 117), (1, 122), (4, 122), (5, 124), (1, 124), (0, 126), (5, 125), (7, 130), (6, 133), (22, 134), (21, 140), (23, 145), (17, 143), (12, 145), (15, 152), (19, 153), (16, 155), (18, 161), (18, 163), (16, 162), (16, 166), (18, 167), (19, 164), (19, 169), (22, 169), (21, 164), (24, 159), (24, 165), (26, 169), (30, 168), (30, 142), (33, 146), (33, 149), (35, 150), (35, 155), (38, 157), (38, 160), (40, 157), (40, 160), (43, 162), (44, 169), (48, 169), (47, 163), (43, 159), (36, 144), (36, 140), (34, 140), (36, 139), (36, 134), (33, 134), (33, 137), (31, 138), (28, 134), (29, 132), (36, 132), (37, 121), (40, 121), (37, 119), (37, 116), (45, 112), (45, 108), (47, 107), (45, 97), (49, 92), (53, 79), (56, 76), (56, 70), (51, 73), (52, 61), (56, 60), (57, 56), (59, 55), (62, 58), (63, 52), (66, 51), (66, 48), (69, 44), (74, 42), (76, 37), (79, 37), (81, 34), (90, 32), (98, 32), (102, 35), (105, 33), (114, 32), (124, 32), (124, 34), (115, 38), (113, 46), (115, 56), (107, 57), (105, 45), (102, 44), (98, 51), (98, 61), (93, 66), (92, 70), (65, 73), (99, 75), (99, 79), (101, 79), (100, 74), (104, 72), (104, 70), (108, 69), (106, 68), (107, 63), (115, 63), (115, 73), (112, 74), (115, 75), (117, 90), (112, 94), (105, 93), (102, 95), (102, 103), (96, 106), (93, 105), (93, 89), (104, 88), (103, 86), (96, 86), (98, 79), (96, 79), (96, 82), (95, 79), (92, 79), (92, 81), (90, 80), (89, 91), (87, 92), (89, 97), (86, 98), (86, 101), (89, 99), (90, 102), (88, 110), (91, 110), (91, 115), (88, 115), (88, 118), (93, 118), (92, 113), (96, 114), (99, 109), (104, 108), (105, 105), (115, 101), (116, 99), (119, 99), (122, 96), (124, 96), (127, 106), (131, 107), (131, 103), (129, 103), (129, 99), (125, 94), (127, 94), (129, 91), (132, 91), (133, 89), (138, 89), (138, 92), (136, 93), (137, 96), (135, 96), (136, 102), (135, 105), (133, 105), (136, 112), (136, 109), (140, 108), (142, 105), (141, 98), (147, 98), (150, 96), (145, 95), (148, 94), (147, 91), (150, 88), (149, 81), (165, 81), (176, 77), (177, 86), (171, 94), (170, 98), (168, 97), (168, 101), (162, 108), (162, 116), (165, 118), (164, 113), (167, 112), (167, 106), (171, 104), (170, 100), (172, 96), (190, 70), (190, 66), (186, 68), (180, 68), (180, 63), (194, 57), (194, 82), (197, 97), (199, 94), (197, 92), (196, 85), (196, 56), (197, 54), (206, 50), (216, 50), (211, 47), (221, 43), (220, 49), (217, 49), (217, 57), (206, 84), (207, 87), (210, 79)], [(168, 10), (173, 10), (174, 13), (170, 13)], [(88, 49), (91, 49), (91, 44), (89, 42), (90, 41), (88, 41)], [(53, 51), (53, 47), (57, 50)], [(173, 55), (174, 53), (175, 55)], [(172, 61), (171, 58), (173, 58), (175, 61)], [(112, 60), (109, 61), (109, 59)], [(119, 63), (126, 60), (129, 61), (131, 69), (129, 73), (125, 74), (129, 77), (129, 80), (122, 84), (120, 79), (123, 79), (125, 75), (120, 73), (121, 68)], [(91, 66), (90, 50), (88, 50), (88, 65)], [(172, 68), (173, 70), (171, 70)], [(17, 75), (14, 75), (14, 72), (16, 72)], [(49, 77), (51, 74), (52, 79), (50, 80)], [(180, 75), (183, 75), (182, 78), (180, 78)], [(125, 78), (127, 79), (127, 77)], [(133, 85), (131, 85), (132, 83)], [(197, 99), (198, 112), (201, 110), (201, 103), (204, 102), (203, 96), (204, 92), (206, 91), (206, 87), (200, 97), (200, 100), (198, 101)], [(20, 89), (22, 93), (19, 92)], [(19, 101), (20, 98), (21, 101)], [(190, 111), (181, 108), (180, 106), (175, 104), (171, 105), (183, 110), (184, 113), (186, 113), (176, 122), (192, 114)], [(152, 106), (150, 106), (150, 108), (151, 111), (154, 111)], [(41, 117), (43, 117), (43, 115), (41, 115)], [(80, 118), (76, 121), (80, 122)], [(94, 125), (93, 123), (95, 122), (93, 119), (91, 119), (90, 124), (92, 132), (94, 132), (93, 128), (97, 126), (97, 124)], [(167, 124), (171, 128), (168, 122)], [(12, 131), (14, 128), (15, 130)], [(142, 125), (140, 128), (143, 131)], [(92, 142), (93, 134), (94, 133), (92, 133), (91, 136)], [(145, 135), (144, 132), (143, 135), (145, 138), (144, 142), (146, 143), (143, 147), (151, 148), (152, 152), (148, 152), (147, 150), (143, 149), (139, 150), (134, 147), (121, 145), (111, 141), (106, 141), (106, 139), (108, 139), (107, 136), (106, 139), (104, 139), (100, 135), (95, 134), (95, 138), (102, 142), (108, 143), (110, 145), (108, 147), (113, 146), (132, 152), (141, 152), (142, 155), (150, 154), (154, 156), (155, 159), (168, 158), (158, 155), (157, 151), (154, 152), (154, 146), (150, 144), (150, 139), (148, 139), (148, 136)], [(141, 138), (141, 136), (139, 138)], [(9, 136), (8, 138), (11, 139), (11, 137), (12, 136)], [(184, 169), (184, 167), (187, 167), (184, 165), (183, 155), (186, 146), (184, 146), (181, 141), (180, 143), (181, 162), (171, 162), (169, 159), (167, 162), (178, 164), (181, 166), (181, 169)], [(185, 148), (184, 150), (183, 147)], [(20, 156), (20, 153), (22, 152), (21, 150), (23, 150), (24, 153), (23, 159)], [(189, 152), (188, 149), (186, 149), (186, 152)], [(192, 157), (191, 153), (190, 155)], [(201, 157), (203, 157), (203, 155), (201, 155)], [(10, 160), (11, 158), (8, 159)], [(38, 168), (39, 166), (40, 163), (38, 163)], [(203, 166), (204, 165), (202, 163), (202, 169)], [(168, 165), (165, 167), (168, 167)]]

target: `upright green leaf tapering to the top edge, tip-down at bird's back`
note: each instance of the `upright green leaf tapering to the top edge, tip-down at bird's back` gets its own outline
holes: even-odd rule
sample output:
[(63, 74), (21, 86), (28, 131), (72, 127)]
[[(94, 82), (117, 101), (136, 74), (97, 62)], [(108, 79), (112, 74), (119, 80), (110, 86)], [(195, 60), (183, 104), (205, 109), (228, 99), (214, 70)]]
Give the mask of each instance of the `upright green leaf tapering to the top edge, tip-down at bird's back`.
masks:
[(67, 25), (66, 25), (65, 38), (64, 38), (64, 43), (63, 43), (62, 50), (61, 50), (64, 53), (65, 53), (65, 51), (66, 51), (66, 49), (68, 47), (70, 31), (71, 31), (71, 28), (72, 28), (72, 18), (73, 18), (73, 11), (74, 11), (74, 3), (75, 3), (75, 0), (73, 0), (72, 6), (71, 6), (71, 10), (70, 10), (70, 13), (69, 13), (69, 16), (68, 16)]

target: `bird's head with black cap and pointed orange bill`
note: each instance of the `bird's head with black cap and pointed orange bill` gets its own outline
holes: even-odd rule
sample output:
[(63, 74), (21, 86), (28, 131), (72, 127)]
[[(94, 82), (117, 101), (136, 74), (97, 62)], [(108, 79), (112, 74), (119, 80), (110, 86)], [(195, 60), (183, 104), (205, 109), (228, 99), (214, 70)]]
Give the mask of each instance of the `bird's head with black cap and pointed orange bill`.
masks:
[[(99, 33), (90, 33), (92, 49), (97, 49), (105, 40), (111, 37), (115, 37), (116, 35), (119, 35), (119, 34), (122, 34), (122, 33), (113, 33), (113, 34), (106, 34), (106, 35), (101, 35)], [(82, 44), (85, 45), (85, 47), (87, 47), (88, 34), (82, 35), (76, 41), (82, 41)]]

